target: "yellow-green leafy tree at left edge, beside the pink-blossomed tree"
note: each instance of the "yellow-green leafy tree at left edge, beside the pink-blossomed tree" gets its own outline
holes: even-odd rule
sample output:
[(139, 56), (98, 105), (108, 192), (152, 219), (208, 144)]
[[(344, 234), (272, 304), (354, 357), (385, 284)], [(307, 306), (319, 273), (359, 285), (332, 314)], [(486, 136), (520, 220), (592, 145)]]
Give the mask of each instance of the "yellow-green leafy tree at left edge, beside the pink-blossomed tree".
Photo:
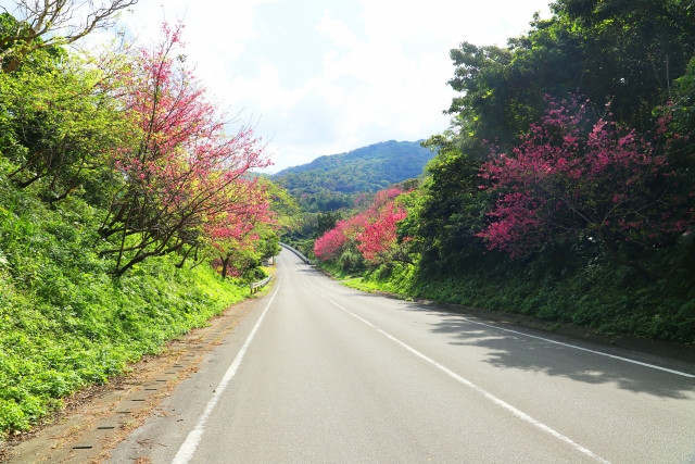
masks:
[(37, 51), (13, 73), (0, 73), (0, 152), (20, 187), (39, 184), (54, 202), (79, 189), (93, 203), (117, 183), (110, 153), (130, 124), (102, 70), (60, 50)]

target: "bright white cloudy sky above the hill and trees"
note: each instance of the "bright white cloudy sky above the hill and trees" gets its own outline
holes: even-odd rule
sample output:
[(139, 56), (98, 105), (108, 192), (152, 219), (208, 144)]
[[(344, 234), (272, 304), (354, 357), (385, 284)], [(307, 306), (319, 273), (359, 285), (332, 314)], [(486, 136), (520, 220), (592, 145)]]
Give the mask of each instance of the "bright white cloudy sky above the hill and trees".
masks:
[[(0, 0), (9, 3), (11, 0)], [(307, 163), (448, 127), (448, 51), (504, 46), (549, 0), (139, 0), (121, 26), (140, 42), (185, 24), (182, 51), (211, 98), (255, 125), (275, 162)], [(235, 127), (230, 127), (235, 130)]]

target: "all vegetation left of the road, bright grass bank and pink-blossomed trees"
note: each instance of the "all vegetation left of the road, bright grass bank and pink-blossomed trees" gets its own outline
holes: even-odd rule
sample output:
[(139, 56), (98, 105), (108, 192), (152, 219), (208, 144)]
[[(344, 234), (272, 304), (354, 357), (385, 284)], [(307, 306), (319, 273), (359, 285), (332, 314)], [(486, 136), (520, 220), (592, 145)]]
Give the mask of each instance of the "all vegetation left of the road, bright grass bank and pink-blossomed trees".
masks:
[(264, 142), (211, 102), (180, 24), (68, 48), (132, 3), (81, 5), (86, 29), (74, 2), (0, 13), (0, 432), (247, 298), (296, 209), (253, 174)]

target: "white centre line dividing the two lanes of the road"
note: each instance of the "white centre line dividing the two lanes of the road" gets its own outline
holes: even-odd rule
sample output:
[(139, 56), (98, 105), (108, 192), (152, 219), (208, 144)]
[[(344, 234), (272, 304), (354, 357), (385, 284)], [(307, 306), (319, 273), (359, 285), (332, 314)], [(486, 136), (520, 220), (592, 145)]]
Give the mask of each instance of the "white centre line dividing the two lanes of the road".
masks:
[(552, 427), (548, 427), (547, 425), (543, 424), (542, 422), (539, 422), (536, 419), (534, 419), (533, 417), (531, 417), (530, 415), (526, 414), (525, 412), (521, 412), (519, 410), (517, 410), (516, 407), (514, 407), (511, 404), (506, 403), (505, 401), (501, 400), (500, 398), (495, 397), (494, 394), (488, 392), (486, 390), (483, 390), (482, 388), (478, 387), (476, 384), (465, 379), (464, 377), (459, 376), (458, 374), (456, 374), (453, 371), (450, 371), (448, 368), (444, 367), (442, 364), (438, 363), (437, 361), (426, 356), (425, 354), (420, 353), (419, 351), (417, 351), (414, 348), (410, 348), (408, 344), (405, 344), (404, 342), (402, 342), (401, 340), (399, 340), (397, 338), (393, 337), (390, 334), (387, 334), (386, 331), (381, 330), (379, 327), (375, 326), (374, 324), (371, 324), (370, 322), (363, 319), (362, 317), (359, 317), (358, 315), (356, 315), (355, 313), (353, 313), (352, 311), (341, 306), (340, 304), (336, 303), (333, 300), (331, 300), (330, 298), (324, 296), (323, 293), (314, 290), (312, 287), (309, 287), (308, 285), (306, 285), (306, 283), (304, 281), (304, 279), (302, 279), (302, 283), (309, 289), (312, 290), (314, 293), (318, 294), (319, 297), (323, 297), (324, 299), (330, 301), (331, 303), (333, 303), (334, 305), (337, 305), (338, 308), (340, 308), (341, 310), (345, 311), (348, 314), (352, 315), (353, 317), (356, 317), (357, 319), (362, 321), (363, 323), (367, 324), (368, 326), (375, 328), (377, 331), (381, 333), (382, 335), (384, 335), (386, 337), (388, 337), (389, 339), (395, 341), (396, 343), (399, 343), (400, 346), (402, 346), (403, 348), (405, 348), (406, 350), (408, 350), (410, 353), (415, 354), (416, 356), (420, 358), (424, 361), (427, 361), (429, 364), (433, 365), (434, 367), (439, 368), (440, 371), (442, 371), (444, 374), (448, 375), (450, 377), (452, 377), (455, 380), (458, 380), (459, 383), (464, 384), (467, 387), (472, 388), (473, 390), (478, 391), (479, 393), (481, 393), (483, 397), (485, 397), (486, 399), (489, 399), (490, 401), (492, 401), (493, 403), (497, 404), (498, 406), (504, 407), (505, 410), (509, 411), (511, 414), (514, 414), (515, 416), (517, 416), (518, 418), (520, 418), (521, 421), (525, 421), (538, 428), (540, 428), (541, 430), (552, 435), (553, 437), (564, 441), (565, 443), (569, 444), (570, 447), (574, 448), (577, 451), (598, 461), (599, 463), (603, 464), (610, 464), (609, 461), (603, 459), (602, 456), (599, 456), (598, 454), (594, 453), (593, 451), (582, 447), (581, 444), (579, 444), (578, 442), (573, 441), (571, 438), (568, 438), (566, 436), (564, 436), (563, 434), (560, 434), (559, 431), (555, 430)]

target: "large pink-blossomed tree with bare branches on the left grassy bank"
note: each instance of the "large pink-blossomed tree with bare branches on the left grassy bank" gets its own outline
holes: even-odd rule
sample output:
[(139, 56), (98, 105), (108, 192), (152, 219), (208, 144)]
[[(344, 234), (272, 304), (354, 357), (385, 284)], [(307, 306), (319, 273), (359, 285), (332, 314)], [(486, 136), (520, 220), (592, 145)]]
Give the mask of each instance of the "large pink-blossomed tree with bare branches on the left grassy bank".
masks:
[(125, 184), (100, 229), (115, 243), (101, 254), (117, 256), (116, 275), (149, 256), (198, 249), (206, 221), (244, 209), (245, 174), (270, 164), (250, 127), (225, 134), (225, 115), (174, 57), (181, 28), (164, 24), (159, 46), (140, 50), (125, 76), (122, 98), (138, 130), (114, 154)]

